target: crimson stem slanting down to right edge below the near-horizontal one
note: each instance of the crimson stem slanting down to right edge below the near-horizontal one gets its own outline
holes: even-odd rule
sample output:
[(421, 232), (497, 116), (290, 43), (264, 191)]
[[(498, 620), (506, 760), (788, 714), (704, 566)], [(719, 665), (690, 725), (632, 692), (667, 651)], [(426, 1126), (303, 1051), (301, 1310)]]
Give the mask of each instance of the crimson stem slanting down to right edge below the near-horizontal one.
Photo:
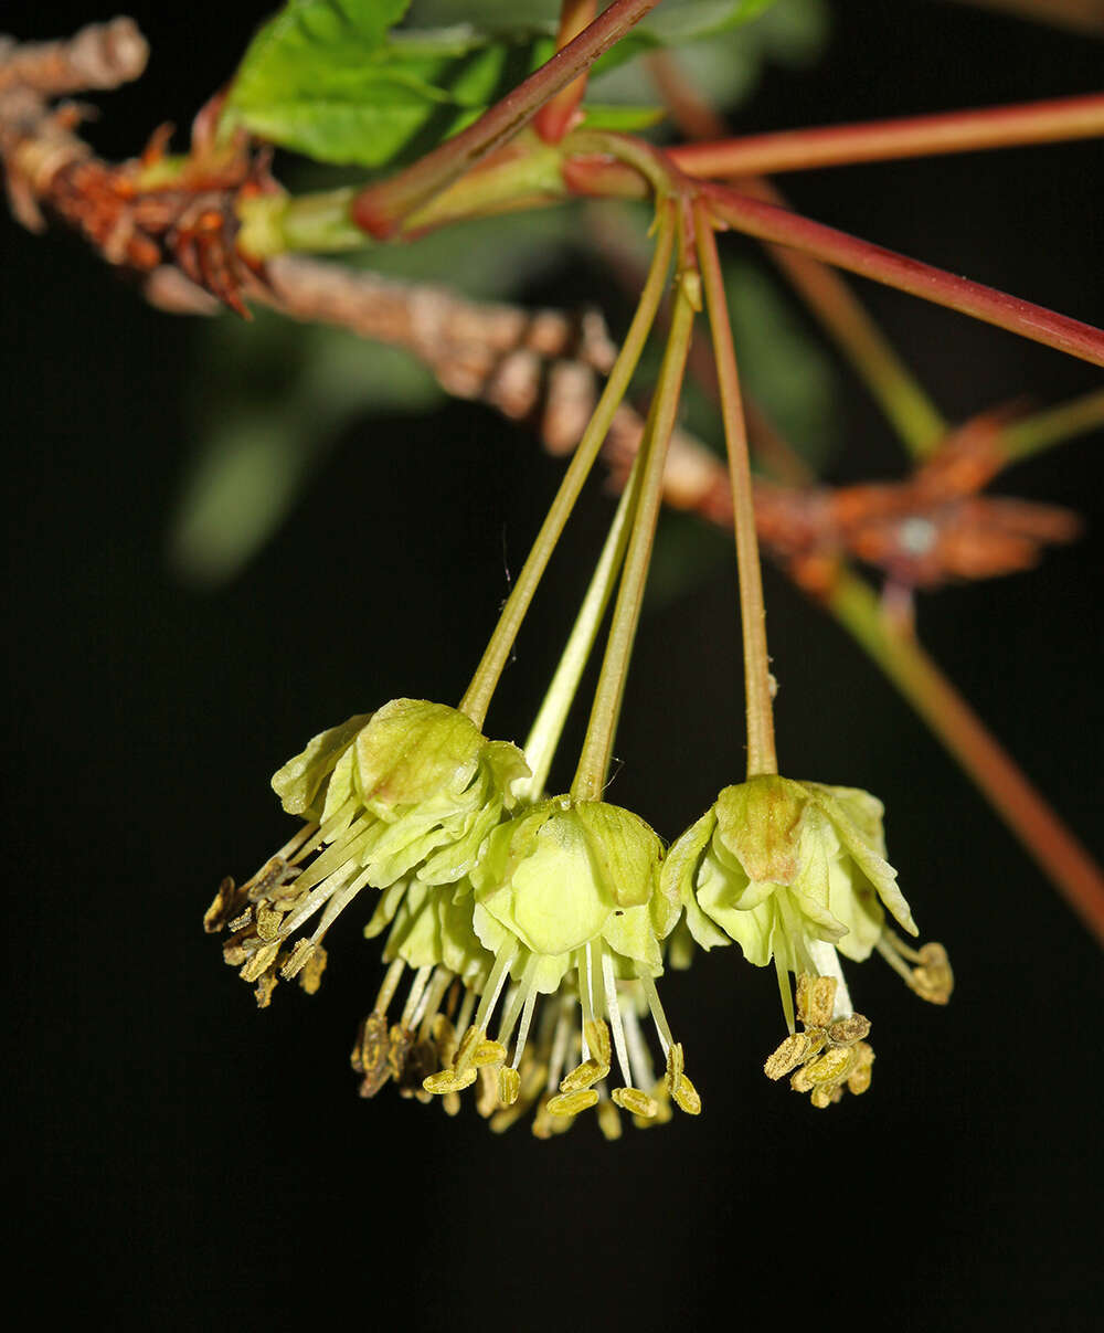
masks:
[(997, 328), (1093, 365), (1104, 365), (1104, 332), (1091, 324), (1071, 320), (992, 287), (971, 283), (969, 279), (872, 245), (784, 208), (738, 195), (723, 185), (702, 183), (699, 189), (708, 197), (712, 213), (739, 232), (779, 245), (792, 245), (827, 264), (835, 264), (836, 268), (846, 268), (886, 287), (972, 315), (985, 324), (996, 324)]

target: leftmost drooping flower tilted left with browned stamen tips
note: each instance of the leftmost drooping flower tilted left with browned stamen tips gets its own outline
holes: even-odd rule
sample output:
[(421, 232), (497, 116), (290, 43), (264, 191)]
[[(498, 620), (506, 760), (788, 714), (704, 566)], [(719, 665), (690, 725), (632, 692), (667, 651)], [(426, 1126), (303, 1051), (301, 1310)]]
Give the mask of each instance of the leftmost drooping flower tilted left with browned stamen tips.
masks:
[[(457, 709), (398, 698), (316, 736), (272, 785), (306, 824), (246, 884), (224, 880), (204, 920), (229, 926), (226, 961), (268, 1004), (277, 977), (317, 986), (321, 941), (366, 886), (408, 893), (451, 885), (529, 776), (521, 750), (486, 740)], [(314, 930), (288, 948), (321, 912)]]

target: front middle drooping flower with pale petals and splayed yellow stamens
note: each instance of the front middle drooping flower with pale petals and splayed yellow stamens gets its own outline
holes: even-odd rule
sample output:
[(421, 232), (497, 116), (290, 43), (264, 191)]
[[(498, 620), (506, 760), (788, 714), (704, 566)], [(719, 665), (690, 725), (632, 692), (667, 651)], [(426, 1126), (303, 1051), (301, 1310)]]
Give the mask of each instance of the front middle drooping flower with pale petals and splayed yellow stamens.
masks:
[[(527, 1102), (537, 1105), (541, 1136), (589, 1106), (599, 1108), (607, 1134), (615, 1132), (613, 1106), (655, 1121), (670, 1097), (696, 1114), (700, 1101), (655, 989), (662, 941), (679, 916), (678, 901), (661, 889), (661, 857), (662, 844), (643, 820), (603, 801), (557, 797), (499, 824), (470, 873), (473, 928), (493, 964), (478, 1005), (463, 1016), (474, 1009), (474, 1017), (458, 1024), (451, 1064), (427, 1077), (425, 1090), (447, 1097), (491, 1070), (491, 1128), (505, 1128), (514, 1108)], [(642, 1010), (666, 1057), (662, 1081), (643, 1038)], [(575, 1048), (579, 1061), (567, 1068)], [(614, 1060), (622, 1084), (610, 1092)]]

